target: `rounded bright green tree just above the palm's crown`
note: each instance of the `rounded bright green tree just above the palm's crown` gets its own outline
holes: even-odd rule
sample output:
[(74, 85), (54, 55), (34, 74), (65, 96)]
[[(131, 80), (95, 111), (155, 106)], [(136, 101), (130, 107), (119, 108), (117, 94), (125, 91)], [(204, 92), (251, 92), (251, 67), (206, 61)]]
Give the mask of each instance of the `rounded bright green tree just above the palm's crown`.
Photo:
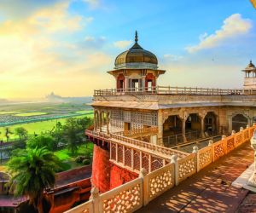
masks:
[(42, 148), (45, 147), (50, 151), (55, 151), (58, 147), (57, 141), (49, 134), (42, 134), (38, 136), (32, 136), (26, 141), (26, 147), (28, 148)]

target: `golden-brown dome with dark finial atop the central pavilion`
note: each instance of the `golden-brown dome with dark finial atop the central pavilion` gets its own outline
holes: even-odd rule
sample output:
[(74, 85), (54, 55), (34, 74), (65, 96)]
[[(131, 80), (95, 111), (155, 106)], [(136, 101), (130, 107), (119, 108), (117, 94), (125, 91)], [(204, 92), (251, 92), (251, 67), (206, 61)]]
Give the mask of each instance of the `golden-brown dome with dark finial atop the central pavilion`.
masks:
[(143, 49), (137, 43), (137, 32), (135, 34), (135, 43), (131, 49), (126, 50), (125, 52), (118, 55), (114, 62), (114, 68), (137, 68), (137, 69), (157, 69), (157, 58), (156, 56), (149, 52), (148, 50)]

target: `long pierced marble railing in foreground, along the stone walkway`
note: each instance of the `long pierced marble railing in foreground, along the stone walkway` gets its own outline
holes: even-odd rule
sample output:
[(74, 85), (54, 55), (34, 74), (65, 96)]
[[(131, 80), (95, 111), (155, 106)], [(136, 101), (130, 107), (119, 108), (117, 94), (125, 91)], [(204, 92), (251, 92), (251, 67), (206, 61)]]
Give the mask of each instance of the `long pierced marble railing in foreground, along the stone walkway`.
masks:
[(177, 158), (176, 154), (170, 155), (171, 163), (162, 165), (160, 169), (147, 172), (144, 168), (140, 176), (125, 183), (107, 193), (100, 194), (96, 187), (91, 191), (90, 200), (78, 207), (68, 210), (68, 213), (102, 213), (102, 212), (134, 212), (147, 205), (166, 190), (172, 189), (187, 177), (202, 170), (208, 164), (218, 160), (236, 147), (239, 147), (253, 135), (256, 125), (247, 127), (237, 133), (222, 139), (216, 143), (209, 141), (209, 146), (198, 150), (193, 147), (193, 153)]

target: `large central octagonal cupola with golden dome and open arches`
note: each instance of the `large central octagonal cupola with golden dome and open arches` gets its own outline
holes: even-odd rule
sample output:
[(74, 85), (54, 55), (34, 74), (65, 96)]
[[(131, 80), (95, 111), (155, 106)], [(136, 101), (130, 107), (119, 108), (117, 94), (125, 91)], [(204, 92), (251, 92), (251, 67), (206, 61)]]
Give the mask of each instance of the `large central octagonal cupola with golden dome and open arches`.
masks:
[(108, 73), (116, 78), (116, 88), (120, 91), (152, 90), (159, 75), (166, 72), (157, 65), (156, 56), (138, 44), (136, 31), (135, 43), (116, 57), (114, 70)]

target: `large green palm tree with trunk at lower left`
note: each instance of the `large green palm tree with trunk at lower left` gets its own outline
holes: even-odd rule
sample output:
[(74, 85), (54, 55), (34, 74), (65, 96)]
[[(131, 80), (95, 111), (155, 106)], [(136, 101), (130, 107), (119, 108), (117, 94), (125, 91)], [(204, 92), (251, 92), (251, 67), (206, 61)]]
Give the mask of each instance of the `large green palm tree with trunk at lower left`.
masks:
[(55, 171), (60, 169), (59, 163), (54, 153), (45, 147), (26, 149), (19, 156), (10, 158), (8, 169), (12, 176), (12, 187), (15, 187), (15, 195), (28, 196), (29, 203), (33, 204), (39, 213), (44, 212), (44, 190), (54, 187)]

